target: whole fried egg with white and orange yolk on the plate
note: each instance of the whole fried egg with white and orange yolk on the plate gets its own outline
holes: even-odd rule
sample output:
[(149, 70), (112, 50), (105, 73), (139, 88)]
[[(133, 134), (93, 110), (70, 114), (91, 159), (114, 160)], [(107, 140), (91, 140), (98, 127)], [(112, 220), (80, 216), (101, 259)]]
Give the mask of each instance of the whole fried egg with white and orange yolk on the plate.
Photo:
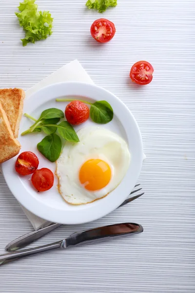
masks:
[(91, 203), (113, 191), (131, 157), (127, 143), (108, 129), (85, 127), (77, 134), (79, 143), (66, 142), (56, 162), (59, 193), (72, 205)]

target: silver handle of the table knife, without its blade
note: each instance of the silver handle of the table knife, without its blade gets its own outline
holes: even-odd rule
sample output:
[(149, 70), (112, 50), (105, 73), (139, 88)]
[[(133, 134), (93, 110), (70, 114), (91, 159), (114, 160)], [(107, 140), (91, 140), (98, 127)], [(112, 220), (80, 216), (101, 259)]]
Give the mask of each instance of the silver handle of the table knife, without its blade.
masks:
[(15, 252), (2, 254), (0, 255), (0, 266), (5, 265), (14, 260), (18, 260), (20, 258), (26, 257), (26, 256), (30, 256), (30, 255), (37, 254), (44, 251), (58, 249), (60, 247), (61, 247), (61, 241), (48, 244), (48, 245), (39, 246), (36, 248), (26, 249), (23, 251), (15, 251)]

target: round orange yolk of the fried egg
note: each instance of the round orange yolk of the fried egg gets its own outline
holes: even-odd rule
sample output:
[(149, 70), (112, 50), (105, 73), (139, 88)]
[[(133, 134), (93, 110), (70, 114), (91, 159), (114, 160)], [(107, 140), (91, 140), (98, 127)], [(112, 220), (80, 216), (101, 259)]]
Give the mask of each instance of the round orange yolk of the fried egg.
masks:
[(95, 191), (104, 188), (111, 179), (110, 166), (99, 159), (86, 161), (80, 168), (79, 180), (84, 188)]

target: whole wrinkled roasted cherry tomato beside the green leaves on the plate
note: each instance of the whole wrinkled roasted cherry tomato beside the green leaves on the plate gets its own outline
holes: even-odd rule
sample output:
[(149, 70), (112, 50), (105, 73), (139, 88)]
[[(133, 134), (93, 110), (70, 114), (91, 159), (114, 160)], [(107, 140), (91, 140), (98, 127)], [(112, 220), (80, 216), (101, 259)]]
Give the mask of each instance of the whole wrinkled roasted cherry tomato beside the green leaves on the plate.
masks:
[(70, 124), (78, 125), (89, 118), (89, 108), (80, 101), (73, 101), (66, 106), (65, 116)]

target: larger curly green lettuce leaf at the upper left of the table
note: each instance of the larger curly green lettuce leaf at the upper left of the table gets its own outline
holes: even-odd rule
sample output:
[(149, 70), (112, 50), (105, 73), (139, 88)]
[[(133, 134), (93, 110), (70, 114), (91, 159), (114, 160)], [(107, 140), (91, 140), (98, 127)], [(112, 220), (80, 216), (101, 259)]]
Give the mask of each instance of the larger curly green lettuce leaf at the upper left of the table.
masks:
[(28, 42), (44, 40), (52, 34), (51, 14), (49, 11), (37, 11), (37, 8), (35, 0), (24, 0), (20, 3), (20, 12), (15, 13), (25, 31), (25, 38), (21, 40), (23, 46)]

